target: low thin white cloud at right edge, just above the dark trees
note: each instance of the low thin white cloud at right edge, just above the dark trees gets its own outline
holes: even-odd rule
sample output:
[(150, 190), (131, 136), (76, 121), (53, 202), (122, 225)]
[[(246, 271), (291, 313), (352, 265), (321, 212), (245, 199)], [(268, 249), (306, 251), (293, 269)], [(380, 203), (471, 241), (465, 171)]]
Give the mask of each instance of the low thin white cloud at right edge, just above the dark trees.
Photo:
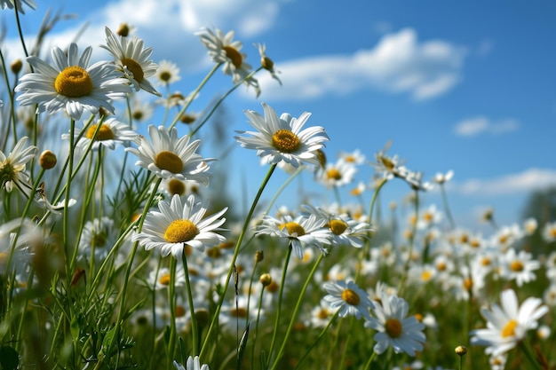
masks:
[(532, 168), (498, 178), (449, 183), (449, 189), (466, 195), (496, 196), (530, 192), (551, 185), (556, 185), (556, 170)]

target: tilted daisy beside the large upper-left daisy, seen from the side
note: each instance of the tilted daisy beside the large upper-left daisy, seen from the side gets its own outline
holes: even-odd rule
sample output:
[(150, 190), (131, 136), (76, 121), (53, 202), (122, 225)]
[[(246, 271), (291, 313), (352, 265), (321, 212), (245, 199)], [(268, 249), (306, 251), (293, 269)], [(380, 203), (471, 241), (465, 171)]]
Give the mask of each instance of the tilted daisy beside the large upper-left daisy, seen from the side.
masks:
[(151, 94), (160, 96), (155, 86), (147, 80), (147, 77), (155, 75), (158, 66), (149, 59), (153, 53), (152, 48), (144, 48), (143, 40), (137, 36), (123, 37), (115, 35), (110, 28), (105, 28), (107, 44), (100, 45), (101, 48), (110, 51), (115, 58), (116, 69), (123, 73), (135, 91), (144, 90)]

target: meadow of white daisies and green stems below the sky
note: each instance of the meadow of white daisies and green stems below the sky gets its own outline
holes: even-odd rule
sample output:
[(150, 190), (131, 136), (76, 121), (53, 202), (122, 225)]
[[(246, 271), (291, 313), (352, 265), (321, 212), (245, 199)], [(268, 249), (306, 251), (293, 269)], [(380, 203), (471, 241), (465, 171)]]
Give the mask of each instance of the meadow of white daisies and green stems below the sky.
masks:
[[(36, 12), (0, 3), (18, 25)], [(46, 50), (58, 21), (45, 16), (34, 44), (18, 29), (25, 59), (0, 43), (0, 369), (556, 366), (556, 221), (493, 212), (490, 232), (462, 228), (451, 171), (426, 181), (389, 145), (330, 161), (333, 138), (309, 113), (265, 103), (227, 106), (249, 123), (234, 145), (266, 168), (244, 209), (199, 137), (218, 135), (238, 87), (281, 83), (266, 45), (251, 66), (232, 30), (199, 29), (213, 66), (184, 95), (179, 66), (153, 60), (129, 25), (101, 46)], [(226, 92), (191, 112), (216, 73)], [(375, 176), (357, 178), (361, 166)], [(289, 179), (267, 193), (277, 171)], [(276, 203), (302, 173), (355, 201)], [(392, 182), (409, 197), (381, 199)], [(423, 201), (433, 187), (441, 204)]]

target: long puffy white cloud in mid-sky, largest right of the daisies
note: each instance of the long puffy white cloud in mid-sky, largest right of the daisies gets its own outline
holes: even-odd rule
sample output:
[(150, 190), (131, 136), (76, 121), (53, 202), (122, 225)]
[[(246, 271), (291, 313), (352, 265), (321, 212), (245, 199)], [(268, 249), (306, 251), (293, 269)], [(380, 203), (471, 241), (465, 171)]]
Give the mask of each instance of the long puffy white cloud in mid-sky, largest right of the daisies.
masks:
[[(260, 75), (266, 98), (316, 98), (365, 88), (407, 92), (412, 98), (440, 96), (461, 79), (465, 49), (444, 41), (418, 42), (411, 28), (384, 35), (377, 45), (351, 55), (324, 55), (276, 62), (282, 86)], [(272, 55), (270, 55), (272, 58)]]

